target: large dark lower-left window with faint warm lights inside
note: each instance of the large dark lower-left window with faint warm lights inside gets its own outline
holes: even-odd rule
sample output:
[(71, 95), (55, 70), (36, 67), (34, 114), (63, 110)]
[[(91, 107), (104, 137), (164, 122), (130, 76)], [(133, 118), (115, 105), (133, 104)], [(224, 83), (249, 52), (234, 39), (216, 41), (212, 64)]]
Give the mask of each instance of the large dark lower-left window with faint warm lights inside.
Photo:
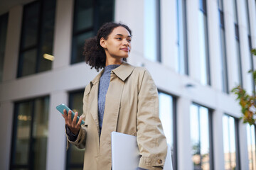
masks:
[(49, 97), (15, 103), (10, 169), (46, 169)]

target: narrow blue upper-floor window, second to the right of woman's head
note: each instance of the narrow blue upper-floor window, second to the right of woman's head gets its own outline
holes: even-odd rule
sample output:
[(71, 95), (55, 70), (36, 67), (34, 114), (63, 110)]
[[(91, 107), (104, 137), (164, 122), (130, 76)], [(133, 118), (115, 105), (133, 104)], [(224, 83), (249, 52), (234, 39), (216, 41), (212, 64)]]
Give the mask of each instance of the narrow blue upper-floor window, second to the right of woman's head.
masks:
[(177, 0), (178, 55), (177, 72), (188, 75), (188, 50), (186, 32), (186, 1)]

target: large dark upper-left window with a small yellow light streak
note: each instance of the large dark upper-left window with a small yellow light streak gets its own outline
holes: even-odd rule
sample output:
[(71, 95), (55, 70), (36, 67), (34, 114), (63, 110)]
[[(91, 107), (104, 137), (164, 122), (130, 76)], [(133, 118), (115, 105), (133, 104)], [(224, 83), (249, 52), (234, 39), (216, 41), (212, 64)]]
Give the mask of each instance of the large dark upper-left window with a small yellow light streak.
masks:
[(18, 77), (52, 67), (55, 0), (35, 1), (23, 8)]

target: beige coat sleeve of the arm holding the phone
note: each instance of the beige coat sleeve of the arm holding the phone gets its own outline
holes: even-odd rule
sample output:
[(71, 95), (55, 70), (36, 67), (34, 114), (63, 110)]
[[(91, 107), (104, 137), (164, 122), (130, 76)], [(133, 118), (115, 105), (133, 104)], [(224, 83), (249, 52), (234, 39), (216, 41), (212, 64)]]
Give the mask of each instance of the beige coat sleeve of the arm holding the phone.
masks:
[[(86, 112), (87, 112), (87, 109), (86, 109), (86, 106), (87, 106), (86, 97), (90, 93), (90, 89), (91, 89), (90, 85), (91, 84), (88, 84), (85, 87), (85, 93), (84, 93), (84, 97), (83, 97), (83, 107), (82, 107), (83, 113), (82, 113), (82, 115), (85, 116), (85, 119), (86, 119)], [(66, 136), (67, 136), (67, 149), (69, 147), (69, 144), (73, 144), (76, 147), (78, 147), (79, 149), (85, 149), (86, 133), (87, 133), (87, 126), (86, 125), (80, 125), (80, 130), (78, 132), (78, 137), (76, 138), (75, 141), (72, 141), (72, 140), (69, 139), (66, 128), (65, 128), (65, 132), (66, 132)]]

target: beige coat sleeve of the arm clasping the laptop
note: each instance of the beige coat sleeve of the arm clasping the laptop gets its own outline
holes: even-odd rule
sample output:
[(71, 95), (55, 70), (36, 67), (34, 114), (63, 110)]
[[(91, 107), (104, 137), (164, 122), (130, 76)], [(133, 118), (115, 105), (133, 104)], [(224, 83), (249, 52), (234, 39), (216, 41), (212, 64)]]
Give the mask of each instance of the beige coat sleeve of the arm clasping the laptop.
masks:
[(159, 119), (159, 98), (156, 85), (147, 70), (139, 84), (137, 110), (137, 143), (139, 167), (162, 169), (166, 159), (167, 143)]

